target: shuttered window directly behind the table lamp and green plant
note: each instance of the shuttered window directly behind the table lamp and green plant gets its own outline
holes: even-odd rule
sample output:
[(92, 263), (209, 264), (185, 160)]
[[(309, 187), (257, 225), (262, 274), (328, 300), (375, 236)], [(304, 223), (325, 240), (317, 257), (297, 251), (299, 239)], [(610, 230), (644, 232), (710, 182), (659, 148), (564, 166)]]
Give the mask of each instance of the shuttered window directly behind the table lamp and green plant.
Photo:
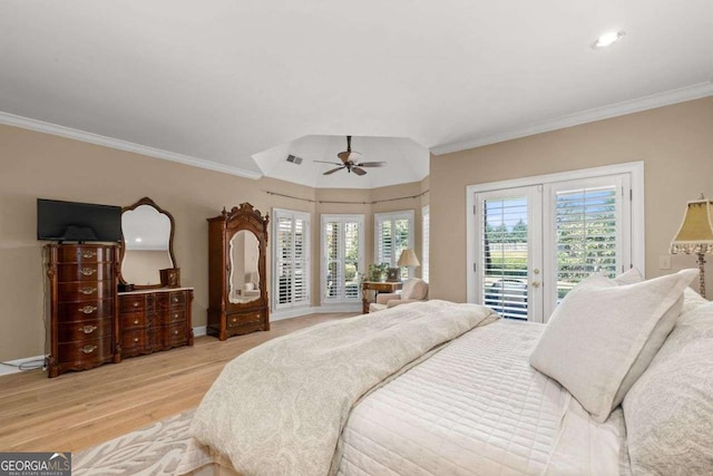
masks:
[[(401, 252), (407, 247), (413, 249), (413, 211), (377, 213), (374, 222), (374, 262), (397, 268)], [(401, 279), (411, 278), (411, 272), (403, 268)]]

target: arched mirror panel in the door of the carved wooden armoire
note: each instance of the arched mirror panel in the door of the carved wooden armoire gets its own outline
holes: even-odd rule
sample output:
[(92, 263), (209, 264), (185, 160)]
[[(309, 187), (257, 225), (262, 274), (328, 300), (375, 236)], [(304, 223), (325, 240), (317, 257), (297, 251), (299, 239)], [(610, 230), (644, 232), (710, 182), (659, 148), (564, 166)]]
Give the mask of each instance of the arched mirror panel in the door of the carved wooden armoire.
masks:
[(229, 242), (229, 302), (242, 304), (261, 297), (260, 242), (255, 233), (241, 230)]

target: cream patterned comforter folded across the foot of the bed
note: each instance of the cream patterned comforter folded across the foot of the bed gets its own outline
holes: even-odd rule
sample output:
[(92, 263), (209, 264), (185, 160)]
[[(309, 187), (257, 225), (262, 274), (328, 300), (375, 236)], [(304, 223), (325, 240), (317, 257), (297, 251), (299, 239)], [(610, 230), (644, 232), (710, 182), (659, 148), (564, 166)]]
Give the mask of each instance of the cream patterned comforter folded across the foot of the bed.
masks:
[(498, 319), (476, 304), (429, 301), (328, 322), (229, 362), (191, 434), (246, 475), (325, 475), (352, 405), (468, 330)]

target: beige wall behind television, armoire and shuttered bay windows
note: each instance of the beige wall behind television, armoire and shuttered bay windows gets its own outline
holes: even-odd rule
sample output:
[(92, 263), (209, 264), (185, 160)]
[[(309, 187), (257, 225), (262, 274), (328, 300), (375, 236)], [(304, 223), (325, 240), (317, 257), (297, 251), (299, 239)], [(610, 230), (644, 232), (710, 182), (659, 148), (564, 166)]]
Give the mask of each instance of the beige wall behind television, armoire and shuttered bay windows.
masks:
[[(0, 360), (47, 352), (45, 243), (36, 239), (38, 197), (127, 206), (149, 196), (170, 212), (176, 222), (174, 252), (182, 284), (195, 288), (193, 322), (194, 327), (201, 327), (206, 323), (208, 295), (206, 218), (219, 214), (224, 206), (250, 202), (263, 213), (280, 207), (312, 214), (316, 305), (320, 213), (364, 213), (369, 246), (365, 262), (370, 263), (371, 214), (377, 207), (371, 204), (373, 197), (416, 195), (422, 186), (414, 183), (375, 191), (344, 191), (314, 190), (272, 178), (253, 181), (9, 126), (0, 126)], [(395, 201), (380, 204), (379, 211), (418, 206), (420, 201)], [(270, 258), (267, 270), (270, 279)]]

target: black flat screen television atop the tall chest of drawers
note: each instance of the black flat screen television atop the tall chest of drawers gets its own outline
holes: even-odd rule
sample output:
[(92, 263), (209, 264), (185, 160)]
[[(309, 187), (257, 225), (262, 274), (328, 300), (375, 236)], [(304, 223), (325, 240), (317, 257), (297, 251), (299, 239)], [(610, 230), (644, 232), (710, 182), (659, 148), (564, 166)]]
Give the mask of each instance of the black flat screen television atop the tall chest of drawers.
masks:
[(120, 242), (121, 207), (37, 198), (37, 239), (58, 242)]

